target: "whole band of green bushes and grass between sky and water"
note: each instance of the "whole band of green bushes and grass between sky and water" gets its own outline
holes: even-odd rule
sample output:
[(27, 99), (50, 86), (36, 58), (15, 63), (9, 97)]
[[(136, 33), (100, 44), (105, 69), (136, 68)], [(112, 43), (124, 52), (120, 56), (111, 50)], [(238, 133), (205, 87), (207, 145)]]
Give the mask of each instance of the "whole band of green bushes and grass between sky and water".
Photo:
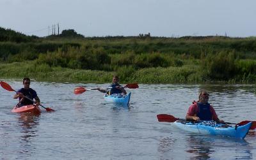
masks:
[(0, 77), (54, 82), (254, 83), (256, 38), (84, 38), (74, 29), (38, 38), (0, 27)]

